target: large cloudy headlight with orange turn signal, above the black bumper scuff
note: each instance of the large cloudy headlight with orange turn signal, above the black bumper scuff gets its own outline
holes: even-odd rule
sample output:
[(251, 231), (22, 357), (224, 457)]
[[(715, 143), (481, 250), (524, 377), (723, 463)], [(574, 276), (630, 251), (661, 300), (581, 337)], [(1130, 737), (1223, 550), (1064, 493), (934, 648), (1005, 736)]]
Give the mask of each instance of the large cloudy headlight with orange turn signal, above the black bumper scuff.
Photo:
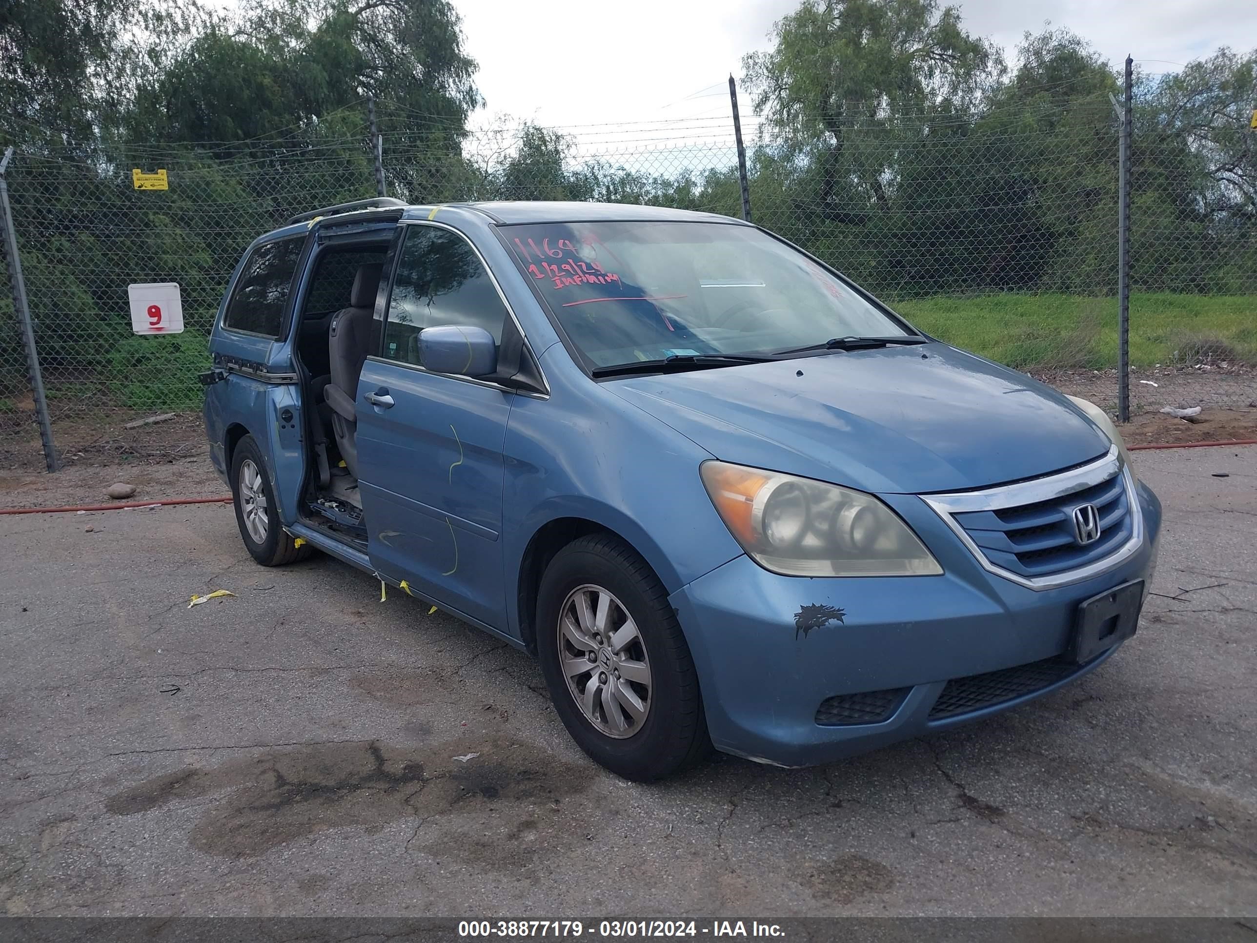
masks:
[(705, 461), (703, 487), (752, 560), (786, 576), (938, 576), (908, 524), (871, 494)]

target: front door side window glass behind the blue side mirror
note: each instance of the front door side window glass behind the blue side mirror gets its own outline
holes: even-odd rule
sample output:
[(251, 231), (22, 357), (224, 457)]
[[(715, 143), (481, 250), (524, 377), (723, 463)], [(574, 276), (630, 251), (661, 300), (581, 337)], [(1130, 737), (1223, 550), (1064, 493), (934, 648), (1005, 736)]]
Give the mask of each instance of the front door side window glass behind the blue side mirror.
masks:
[(407, 226), (388, 299), (385, 356), (422, 366), (419, 332), (483, 327), (502, 343), (507, 307), (471, 244), (435, 226)]

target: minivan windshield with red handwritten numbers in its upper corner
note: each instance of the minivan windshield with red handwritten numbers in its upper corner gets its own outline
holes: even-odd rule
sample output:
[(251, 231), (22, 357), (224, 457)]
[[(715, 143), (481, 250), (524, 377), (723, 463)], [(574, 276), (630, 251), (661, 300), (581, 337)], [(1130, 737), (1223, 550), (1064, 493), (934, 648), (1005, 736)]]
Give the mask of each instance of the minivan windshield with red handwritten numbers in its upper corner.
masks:
[(724, 223), (502, 226), (595, 367), (909, 332), (806, 255)]

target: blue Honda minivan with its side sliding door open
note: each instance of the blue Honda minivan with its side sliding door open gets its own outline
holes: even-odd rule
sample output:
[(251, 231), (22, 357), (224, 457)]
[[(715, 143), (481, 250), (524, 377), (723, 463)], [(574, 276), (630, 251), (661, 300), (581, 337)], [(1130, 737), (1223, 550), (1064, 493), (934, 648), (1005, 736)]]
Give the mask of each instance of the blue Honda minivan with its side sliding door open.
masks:
[(1134, 635), (1156, 562), (1100, 409), (725, 216), (316, 210), (249, 246), (211, 351), (249, 553), (319, 549), (533, 653), (631, 780), (1053, 690)]

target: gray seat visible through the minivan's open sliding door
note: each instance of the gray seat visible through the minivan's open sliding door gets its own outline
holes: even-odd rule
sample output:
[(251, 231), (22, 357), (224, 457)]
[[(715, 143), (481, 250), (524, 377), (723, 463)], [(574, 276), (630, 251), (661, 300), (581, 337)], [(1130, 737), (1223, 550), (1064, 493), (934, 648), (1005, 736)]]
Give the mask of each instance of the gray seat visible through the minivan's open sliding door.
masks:
[(349, 292), (349, 307), (332, 317), (328, 333), (328, 355), (332, 361), (332, 378), (323, 389), (323, 399), (332, 407), (332, 433), (346, 468), (358, 475), (358, 449), (354, 436), (358, 429), (354, 400), (358, 395), (358, 376), (362, 362), (380, 347), (380, 327), (375, 319), (376, 290), (380, 288), (382, 264), (371, 262), (358, 265)]

